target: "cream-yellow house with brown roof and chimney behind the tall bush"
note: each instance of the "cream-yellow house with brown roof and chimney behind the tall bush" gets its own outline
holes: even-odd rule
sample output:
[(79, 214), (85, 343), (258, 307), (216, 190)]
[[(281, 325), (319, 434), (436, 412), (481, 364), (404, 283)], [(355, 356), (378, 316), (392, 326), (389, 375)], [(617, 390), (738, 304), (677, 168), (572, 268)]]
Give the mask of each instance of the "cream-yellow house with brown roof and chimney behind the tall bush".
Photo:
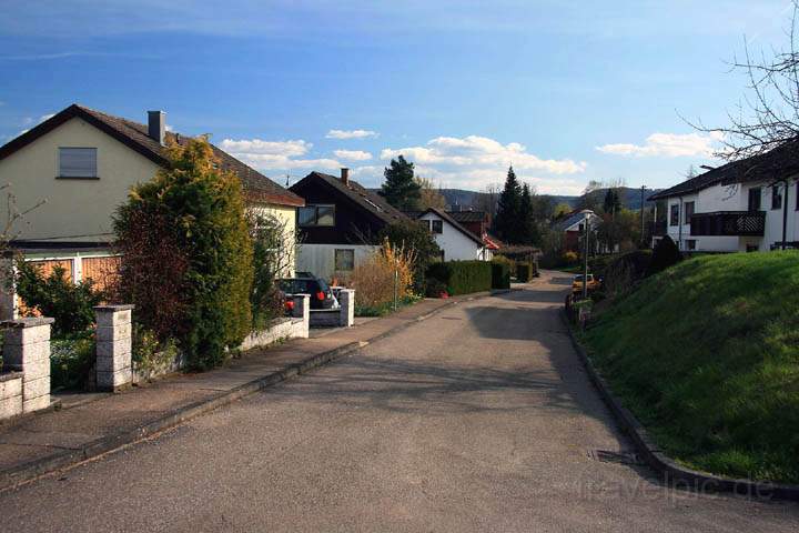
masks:
[[(188, 139), (166, 131), (162, 111), (142, 124), (72, 104), (0, 147), (0, 183), (10, 184), (18, 209), (45, 202), (12, 229), (12, 245), (28, 260), (60, 262), (75, 282), (107, 266), (114, 211), (131, 187), (169, 165), (168, 143)], [(250, 209), (293, 232), (303, 199), (212, 148), (222, 170), (241, 179)]]

